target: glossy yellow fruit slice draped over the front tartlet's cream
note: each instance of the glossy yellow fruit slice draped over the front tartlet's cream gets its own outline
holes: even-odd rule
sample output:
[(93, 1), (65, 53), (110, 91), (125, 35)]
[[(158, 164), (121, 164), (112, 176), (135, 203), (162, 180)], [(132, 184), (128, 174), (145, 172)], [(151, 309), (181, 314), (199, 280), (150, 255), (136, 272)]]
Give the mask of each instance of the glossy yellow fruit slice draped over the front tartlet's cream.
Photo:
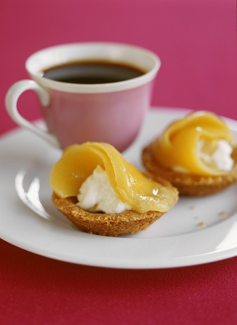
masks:
[(137, 212), (166, 212), (178, 200), (174, 188), (145, 177), (113, 146), (102, 142), (86, 142), (65, 149), (51, 170), (51, 187), (61, 198), (77, 196), (82, 183), (98, 164), (106, 171), (118, 198)]

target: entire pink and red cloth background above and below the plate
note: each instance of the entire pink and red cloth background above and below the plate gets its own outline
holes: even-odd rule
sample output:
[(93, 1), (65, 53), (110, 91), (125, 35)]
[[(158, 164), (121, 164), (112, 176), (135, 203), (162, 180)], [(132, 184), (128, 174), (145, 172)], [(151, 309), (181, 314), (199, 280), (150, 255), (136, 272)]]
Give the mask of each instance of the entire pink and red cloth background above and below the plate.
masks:
[[(15, 126), (7, 88), (28, 78), (36, 50), (115, 41), (156, 52), (153, 105), (213, 110), (237, 119), (234, 0), (0, 1), (0, 133)], [(20, 112), (40, 116), (35, 95)], [(5, 324), (236, 323), (237, 258), (166, 270), (113, 270), (47, 259), (0, 240), (0, 322)]]

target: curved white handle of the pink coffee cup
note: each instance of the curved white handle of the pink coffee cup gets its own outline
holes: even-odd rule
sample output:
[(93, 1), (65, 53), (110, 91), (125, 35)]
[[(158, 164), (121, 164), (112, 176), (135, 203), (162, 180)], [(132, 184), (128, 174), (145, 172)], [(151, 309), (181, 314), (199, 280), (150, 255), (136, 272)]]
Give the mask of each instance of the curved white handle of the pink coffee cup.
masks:
[(24, 117), (20, 115), (17, 110), (17, 101), (20, 95), (26, 90), (34, 90), (39, 97), (42, 106), (48, 106), (49, 104), (49, 93), (40, 85), (38, 85), (33, 80), (21, 80), (12, 85), (6, 95), (5, 105), (8, 114), (11, 116), (14, 122), (24, 127), (25, 129), (35, 133), (36, 135), (42, 137), (50, 144), (57, 148), (60, 148), (59, 142), (56, 136), (50, 134), (47, 131), (41, 130), (35, 124), (27, 121)]

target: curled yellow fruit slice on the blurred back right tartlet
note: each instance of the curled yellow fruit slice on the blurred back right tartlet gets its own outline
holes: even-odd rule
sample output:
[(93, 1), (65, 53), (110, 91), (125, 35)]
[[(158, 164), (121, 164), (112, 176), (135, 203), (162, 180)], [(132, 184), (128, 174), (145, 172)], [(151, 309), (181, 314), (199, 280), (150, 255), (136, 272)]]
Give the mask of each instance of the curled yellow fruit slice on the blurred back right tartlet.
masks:
[(205, 140), (205, 153), (212, 154), (217, 141), (233, 144), (227, 125), (214, 113), (198, 111), (170, 124), (154, 143), (155, 160), (165, 168), (184, 168), (195, 175), (221, 175), (224, 171), (205, 164), (197, 156), (198, 141)]

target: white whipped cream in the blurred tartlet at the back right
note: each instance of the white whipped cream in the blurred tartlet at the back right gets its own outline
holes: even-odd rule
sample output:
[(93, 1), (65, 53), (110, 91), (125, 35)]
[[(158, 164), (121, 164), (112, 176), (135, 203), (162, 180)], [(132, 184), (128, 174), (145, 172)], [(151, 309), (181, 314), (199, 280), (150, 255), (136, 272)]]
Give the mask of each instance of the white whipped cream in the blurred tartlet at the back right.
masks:
[(217, 142), (217, 149), (208, 155), (203, 151), (204, 140), (199, 140), (197, 144), (197, 156), (206, 164), (223, 171), (230, 171), (233, 168), (234, 160), (231, 158), (232, 146), (226, 140)]

